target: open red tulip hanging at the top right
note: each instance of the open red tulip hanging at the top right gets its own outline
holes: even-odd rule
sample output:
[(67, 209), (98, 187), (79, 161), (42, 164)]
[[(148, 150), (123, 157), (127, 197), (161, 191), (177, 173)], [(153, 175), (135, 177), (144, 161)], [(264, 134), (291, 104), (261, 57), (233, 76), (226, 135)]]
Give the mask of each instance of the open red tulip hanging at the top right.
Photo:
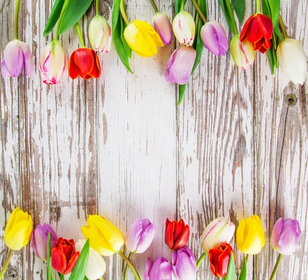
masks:
[(268, 16), (256, 13), (249, 17), (241, 32), (240, 41), (248, 39), (253, 44), (255, 51), (262, 53), (271, 48), (273, 35), (273, 23)]

